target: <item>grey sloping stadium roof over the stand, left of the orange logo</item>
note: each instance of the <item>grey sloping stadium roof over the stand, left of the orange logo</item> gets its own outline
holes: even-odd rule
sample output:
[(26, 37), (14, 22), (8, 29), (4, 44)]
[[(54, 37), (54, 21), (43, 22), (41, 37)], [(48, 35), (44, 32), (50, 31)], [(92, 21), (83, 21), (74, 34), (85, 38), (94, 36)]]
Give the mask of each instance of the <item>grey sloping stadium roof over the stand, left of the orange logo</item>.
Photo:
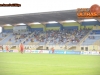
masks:
[[(19, 11), (20, 12), (20, 11)], [(0, 16), (0, 25), (4, 24), (18, 24), (18, 23), (32, 23), (32, 22), (48, 22), (48, 21), (65, 21), (65, 20), (79, 20), (76, 15), (76, 10), (64, 10), (42, 13), (29, 13), (10, 16)]]

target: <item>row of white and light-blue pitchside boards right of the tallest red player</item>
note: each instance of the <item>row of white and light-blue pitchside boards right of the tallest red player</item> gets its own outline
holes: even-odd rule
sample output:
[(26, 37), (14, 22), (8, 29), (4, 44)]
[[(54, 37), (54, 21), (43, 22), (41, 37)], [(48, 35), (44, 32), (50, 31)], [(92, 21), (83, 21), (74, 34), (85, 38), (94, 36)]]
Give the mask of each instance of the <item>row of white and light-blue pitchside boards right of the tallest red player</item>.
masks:
[(52, 50), (25, 50), (25, 53), (100, 55), (100, 52), (98, 51), (64, 51), (64, 50), (55, 50), (54, 53), (52, 53)]

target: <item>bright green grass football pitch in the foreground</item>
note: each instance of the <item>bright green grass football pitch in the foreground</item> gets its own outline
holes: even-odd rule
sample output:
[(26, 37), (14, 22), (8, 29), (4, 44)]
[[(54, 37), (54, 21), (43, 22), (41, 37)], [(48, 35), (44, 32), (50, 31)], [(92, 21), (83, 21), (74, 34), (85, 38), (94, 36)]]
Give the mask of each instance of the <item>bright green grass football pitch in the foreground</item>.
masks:
[(0, 53), (0, 75), (100, 75), (100, 56)]

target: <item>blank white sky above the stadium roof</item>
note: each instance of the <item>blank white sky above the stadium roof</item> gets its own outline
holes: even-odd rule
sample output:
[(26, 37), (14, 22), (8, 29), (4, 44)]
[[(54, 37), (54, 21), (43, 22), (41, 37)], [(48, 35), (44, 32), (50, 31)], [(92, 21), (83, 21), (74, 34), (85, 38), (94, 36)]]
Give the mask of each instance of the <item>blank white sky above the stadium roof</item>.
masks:
[(100, 0), (0, 0), (0, 4), (19, 3), (21, 7), (0, 7), (0, 16), (89, 8)]

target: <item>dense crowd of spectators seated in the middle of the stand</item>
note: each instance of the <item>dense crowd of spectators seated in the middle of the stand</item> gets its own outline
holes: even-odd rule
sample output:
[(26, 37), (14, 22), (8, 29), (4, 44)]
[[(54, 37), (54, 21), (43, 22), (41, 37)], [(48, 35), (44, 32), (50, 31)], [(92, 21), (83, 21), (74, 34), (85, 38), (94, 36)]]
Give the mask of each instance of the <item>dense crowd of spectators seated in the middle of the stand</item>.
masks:
[[(39, 42), (44, 44), (66, 44), (66, 43), (78, 43), (90, 29), (81, 29), (81, 30), (49, 30), (46, 32), (43, 31), (34, 31), (28, 32), (27, 34), (13, 33), (14, 39), (10, 38), (9, 41), (15, 41), (20, 43), (22, 39), (25, 39), (23, 43), (26, 42)], [(32, 34), (32, 35), (31, 35)], [(28, 38), (27, 38), (28, 37)]]

